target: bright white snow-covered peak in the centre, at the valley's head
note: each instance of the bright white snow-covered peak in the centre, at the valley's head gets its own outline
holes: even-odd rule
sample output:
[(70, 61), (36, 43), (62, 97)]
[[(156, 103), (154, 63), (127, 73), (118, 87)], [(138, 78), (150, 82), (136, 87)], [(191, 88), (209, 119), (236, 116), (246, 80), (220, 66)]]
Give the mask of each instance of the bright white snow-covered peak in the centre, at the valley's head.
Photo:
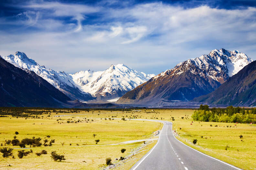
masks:
[(124, 64), (111, 65), (105, 71), (80, 71), (70, 74), (80, 90), (98, 99), (113, 99), (154, 77), (146, 75)]

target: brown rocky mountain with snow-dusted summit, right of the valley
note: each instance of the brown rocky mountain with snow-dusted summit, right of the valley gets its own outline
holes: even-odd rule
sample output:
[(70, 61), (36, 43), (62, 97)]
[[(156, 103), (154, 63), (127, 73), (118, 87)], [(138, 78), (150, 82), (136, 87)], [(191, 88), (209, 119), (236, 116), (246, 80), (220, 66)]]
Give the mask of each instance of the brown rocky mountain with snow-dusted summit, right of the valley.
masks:
[(157, 105), (208, 94), (252, 60), (242, 52), (213, 50), (177, 64), (124, 94), (117, 103)]

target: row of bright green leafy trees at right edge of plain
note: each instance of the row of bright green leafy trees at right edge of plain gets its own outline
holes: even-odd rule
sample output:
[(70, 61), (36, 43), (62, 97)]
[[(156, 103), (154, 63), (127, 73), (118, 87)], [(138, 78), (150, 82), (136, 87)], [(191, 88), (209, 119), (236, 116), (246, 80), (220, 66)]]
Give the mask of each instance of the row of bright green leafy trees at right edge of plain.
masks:
[(193, 120), (204, 122), (227, 122), (227, 123), (253, 123), (256, 124), (256, 108), (244, 109), (229, 106), (226, 109), (209, 109), (208, 105), (201, 105), (194, 111)]

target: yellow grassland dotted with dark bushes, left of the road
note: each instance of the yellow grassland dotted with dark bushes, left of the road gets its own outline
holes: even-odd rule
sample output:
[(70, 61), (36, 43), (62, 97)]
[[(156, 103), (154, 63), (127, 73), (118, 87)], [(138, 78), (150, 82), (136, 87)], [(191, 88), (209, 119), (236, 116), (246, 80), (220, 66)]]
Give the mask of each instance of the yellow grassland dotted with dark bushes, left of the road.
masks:
[[(110, 111), (109, 111), (110, 112)], [(120, 111), (119, 111), (120, 112)], [(86, 114), (88, 112), (80, 112), (79, 114)], [(96, 113), (91, 113), (91, 116), (99, 116)], [(116, 115), (110, 112), (111, 115)], [(72, 114), (72, 113), (68, 113)], [(41, 142), (46, 136), (49, 139), (55, 139), (53, 146), (31, 147), (33, 153), (24, 156), (22, 159), (17, 157), (17, 151), (14, 149), (13, 153), (16, 157), (3, 158), (0, 157), (1, 169), (98, 169), (99, 166), (105, 164), (105, 159), (111, 157), (112, 160), (125, 156), (129, 152), (140, 146), (141, 143), (131, 143), (126, 145), (100, 146), (117, 144), (129, 140), (147, 139), (152, 137), (152, 133), (160, 129), (161, 123), (158, 122), (142, 122), (137, 120), (123, 121), (123, 120), (105, 120), (89, 118), (87, 115), (75, 115), (65, 117), (54, 117), (56, 113), (48, 115), (40, 115), (40, 118), (0, 118), (0, 143), (5, 143), (5, 139), (12, 140), (14, 136), (21, 140), (25, 137), (41, 137)], [(120, 113), (117, 113), (120, 114)], [(43, 116), (43, 118), (41, 118)], [(86, 119), (85, 119), (86, 118)], [(59, 123), (57, 119), (59, 120)], [(89, 119), (89, 120), (88, 120)], [(78, 121), (77, 123), (67, 123), (67, 121)], [(81, 120), (83, 120), (81, 122)], [(93, 121), (92, 121), (93, 120)], [(15, 135), (15, 131), (19, 134)], [(96, 134), (95, 138), (93, 134)], [(48, 139), (46, 137), (46, 139)], [(100, 139), (98, 146), (95, 139)], [(63, 146), (61, 143), (63, 143)], [(70, 146), (71, 144), (71, 146)], [(155, 142), (147, 147), (150, 149)], [(11, 148), (19, 148), (19, 146), (6, 145)], [(27, 146), (29, 147), (29, 146)], [(126, 152), (121, 153), (121, 149), (125, 148)], [(47, 155), (36, 156), (36, 152), (47, 150)], [(58, 154), (64, 155), (66, 160), (62, 162), (54, 162), (50, 158), (50, 152), (57, 151)], [(129, 169), (136, 160), (139, 160), (146, 151), (136, 155), (132, 161), (127, 165), (120, 167), (122, 169)], [(10, 167), (7, 165), (11, 165)]]

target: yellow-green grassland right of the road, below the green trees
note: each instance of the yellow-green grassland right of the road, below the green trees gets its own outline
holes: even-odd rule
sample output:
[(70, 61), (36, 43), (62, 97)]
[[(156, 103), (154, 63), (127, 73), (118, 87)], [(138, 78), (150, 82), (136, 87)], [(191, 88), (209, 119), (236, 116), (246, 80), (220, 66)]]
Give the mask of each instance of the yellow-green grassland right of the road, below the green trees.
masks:
[[(177, 130), (180, 135), (177, 139), (188, 146), (242, 169), (256, 169), (255, 127), (247, 124), (234, 126), (235, 123), (193, 121), (191, 118), (193, 112), (192, 109), (142, 109), (141, 112), (122, 113), (118, 117), (126, 118), (127, 115), (129, 118), (135, 114), (138, 115), (137, 118), (142, 119), (157, 118), (157, 120), (171, 121), (173, 122), (173, 130)], [(172, 117), (174, 121), (172, 121)], [(240, 135), (243, 138), (240, 139)], [(196, 145), (192, 144), (193, 139), (198, 140)]]

